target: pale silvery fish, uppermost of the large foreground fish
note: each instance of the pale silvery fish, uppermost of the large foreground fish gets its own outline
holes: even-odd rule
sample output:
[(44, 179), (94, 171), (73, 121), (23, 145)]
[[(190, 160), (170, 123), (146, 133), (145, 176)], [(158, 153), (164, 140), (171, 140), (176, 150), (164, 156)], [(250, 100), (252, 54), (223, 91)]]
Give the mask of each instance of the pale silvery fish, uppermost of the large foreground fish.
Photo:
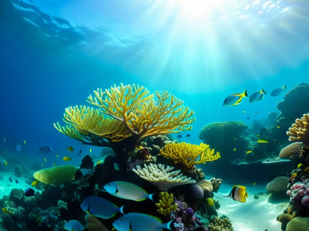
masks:
[(125, 200), (143, 201), (149, 198), (153, 201), (154, 194), (148, 194), (144, 189), (125, 181), (113, 181), (103, 186), (101, 190)]

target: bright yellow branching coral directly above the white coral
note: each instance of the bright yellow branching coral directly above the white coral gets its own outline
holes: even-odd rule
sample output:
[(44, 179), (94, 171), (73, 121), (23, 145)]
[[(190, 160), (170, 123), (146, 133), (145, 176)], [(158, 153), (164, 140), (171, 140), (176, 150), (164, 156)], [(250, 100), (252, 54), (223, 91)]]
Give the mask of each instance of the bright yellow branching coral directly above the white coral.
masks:
[(182, 142), (166, 144), (163, 149), (160, 149), (159, 155), (170, 158), (175, 163), (181, 162), (190, 168), (194, 164), (205, 164), (207, 161), (218, 160), (221, 157), (219, 152), (214, 153), (214, 149), (210, 149), (208, 144), (196, 145)]

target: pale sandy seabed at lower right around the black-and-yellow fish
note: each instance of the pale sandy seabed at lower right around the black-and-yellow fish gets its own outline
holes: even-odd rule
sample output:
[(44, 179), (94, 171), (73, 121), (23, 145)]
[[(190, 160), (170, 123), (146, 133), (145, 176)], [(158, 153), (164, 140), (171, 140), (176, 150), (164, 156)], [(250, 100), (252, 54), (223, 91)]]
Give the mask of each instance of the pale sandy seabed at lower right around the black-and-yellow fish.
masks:
[(266, 185), (243, 185), (247, 187), (248, 198), (246, 203), (233, 201), (227, 196), (233, 185), (221, 184), (214, 199), (218, 200), (221, 207), (217, 210), (219, 217), (226, 215), (230, 218), (235, 231), (281, 231), (281, 223), (277, 216), (289, 205), (289, 199), (278, 204), (269, 203), (269, 195), (261, 195), (254, 199), (254, 194), (265, 192)]

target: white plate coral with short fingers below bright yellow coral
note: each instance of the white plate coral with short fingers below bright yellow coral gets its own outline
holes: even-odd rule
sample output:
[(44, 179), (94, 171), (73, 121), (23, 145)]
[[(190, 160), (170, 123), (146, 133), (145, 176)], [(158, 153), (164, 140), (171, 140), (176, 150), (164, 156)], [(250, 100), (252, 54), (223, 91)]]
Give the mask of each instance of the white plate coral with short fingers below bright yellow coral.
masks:
[(180, 173), (180, 170), (173, 171), (174, 167), (167, 166), (164, 164), (144, 164), (144, 168), (136, 166), (133, 168), (133, 172), (144, 180), (154, 184), (161, 190), (168, 190), (169, 188), (183, 185), (183, 184), (195, 184), (196, 181), (192, 180), (191, 177), (184, 176)]

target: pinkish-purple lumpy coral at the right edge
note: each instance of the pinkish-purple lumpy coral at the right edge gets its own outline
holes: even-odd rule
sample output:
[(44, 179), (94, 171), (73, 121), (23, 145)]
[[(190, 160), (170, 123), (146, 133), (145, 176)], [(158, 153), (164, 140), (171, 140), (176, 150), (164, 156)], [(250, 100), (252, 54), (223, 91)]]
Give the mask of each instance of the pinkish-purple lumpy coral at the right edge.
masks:
[(291, 197), (290, 202), (292, 204), (301, 203), (302, 205), (309, 206), (309, 179), (304, 183), (295, 183), (286, 194)]

